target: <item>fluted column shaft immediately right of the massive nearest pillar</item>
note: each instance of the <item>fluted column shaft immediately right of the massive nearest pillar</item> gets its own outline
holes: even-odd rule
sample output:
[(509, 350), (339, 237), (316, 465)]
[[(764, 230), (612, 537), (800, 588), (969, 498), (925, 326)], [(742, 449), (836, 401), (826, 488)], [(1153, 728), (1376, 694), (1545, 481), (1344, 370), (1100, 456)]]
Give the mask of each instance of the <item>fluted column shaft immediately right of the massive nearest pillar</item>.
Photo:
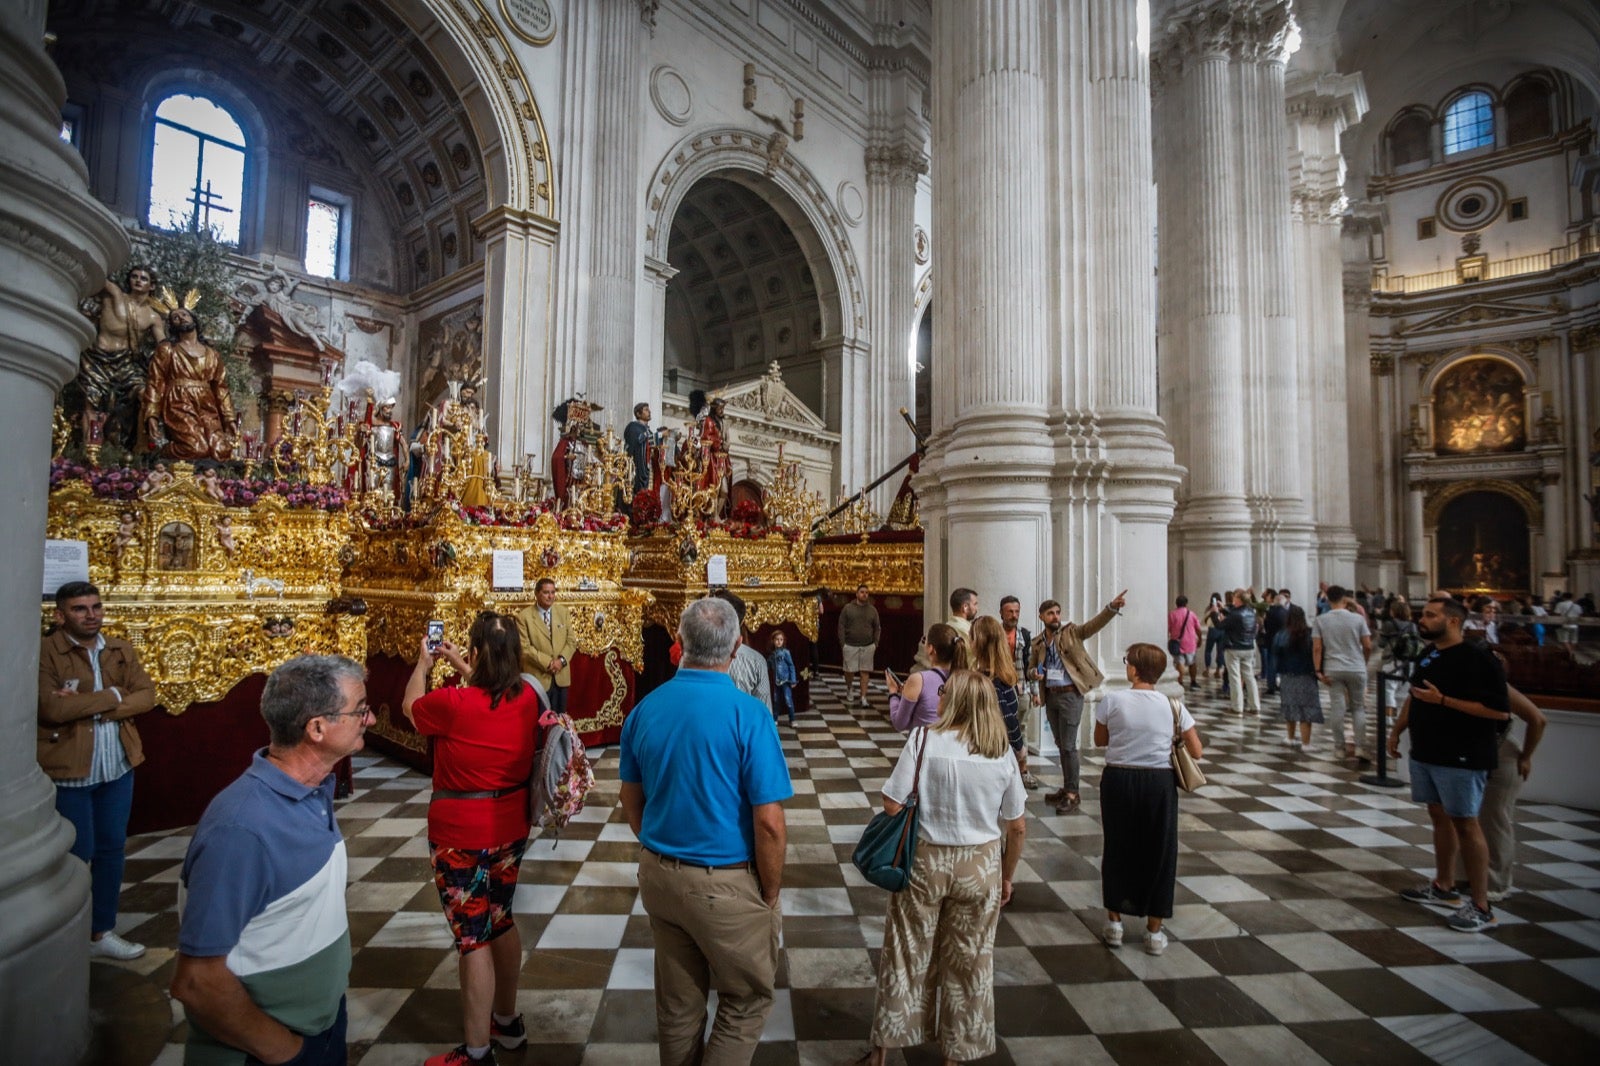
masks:
[(1168, 359), (1187, 370), (1187, 394), (1163, 416), (1187, 423), (1178, 463), (1189, 482), (1174, 527), (1190, 595), (1248, 584), (1253, 573), (1230, 48), (1226, 10), (1186, 8), (1155, 51), (1160, 331)]

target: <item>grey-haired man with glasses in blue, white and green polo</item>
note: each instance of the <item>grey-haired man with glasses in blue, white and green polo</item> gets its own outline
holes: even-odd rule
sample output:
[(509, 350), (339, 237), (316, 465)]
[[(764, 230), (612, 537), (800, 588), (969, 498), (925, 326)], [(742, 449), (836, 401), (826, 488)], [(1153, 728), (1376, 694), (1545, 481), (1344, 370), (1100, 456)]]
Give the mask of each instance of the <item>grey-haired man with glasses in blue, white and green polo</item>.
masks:
[(211, 800), (184, 856), (184, 1066), (344, 1064), (350, 927), (333, 767), (362, 749), (370, 714), (354, 659), (307, 655), (267, 679), (272, 743)]

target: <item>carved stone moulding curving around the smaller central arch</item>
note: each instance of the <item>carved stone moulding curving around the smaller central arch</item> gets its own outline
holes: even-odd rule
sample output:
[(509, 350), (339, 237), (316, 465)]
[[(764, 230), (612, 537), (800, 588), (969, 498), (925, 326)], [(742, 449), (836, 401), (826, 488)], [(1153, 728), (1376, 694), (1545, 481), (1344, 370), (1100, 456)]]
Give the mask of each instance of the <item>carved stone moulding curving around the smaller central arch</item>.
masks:
[[(454, 0), (453, 0), (454, 2)], [(822, 293), (822, 338), (858, 343), (866, 333), (866, 299), (861, 269), (845, 232), (843, 219), (822, 190), (822, 184), (792, 154), (784, 152), (774, 165), (768, 152), (771, 141), (749, 130), (717, 128), (690, 134), (678, 141), (650, 176), (645, 202), (646, 254), (667, 261), (672, 218), (683, 197), (701, 178), (718, 174), (746, 184), (757, 192), (770, 184), (784, 197), (770, 202), (800, 240), (802, 251), (821, 282), (819, 267), (827, 267), (832, 291)]]

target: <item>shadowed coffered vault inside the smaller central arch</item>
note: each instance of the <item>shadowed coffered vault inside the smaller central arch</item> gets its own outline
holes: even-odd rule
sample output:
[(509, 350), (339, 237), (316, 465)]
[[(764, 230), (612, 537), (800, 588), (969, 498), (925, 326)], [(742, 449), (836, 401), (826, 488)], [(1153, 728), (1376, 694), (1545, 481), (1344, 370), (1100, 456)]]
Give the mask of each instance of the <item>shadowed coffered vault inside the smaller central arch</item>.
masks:
[[(768, 363), (811, 355), (822, 336), (822, 291), (794, 226), (808, 226), (782, 190), (757, 174), (698, 181), (672, 216), (667, 331), (677, 365), (706, 384), (758, 376)], [(790, 219), (774, 202), (794, 208)], [(826, 271), (826, 264), (822, 266)], [(822, 279), (822, 290), (832, 277)], [(821, 395), (802, 399), (819, 410)]]

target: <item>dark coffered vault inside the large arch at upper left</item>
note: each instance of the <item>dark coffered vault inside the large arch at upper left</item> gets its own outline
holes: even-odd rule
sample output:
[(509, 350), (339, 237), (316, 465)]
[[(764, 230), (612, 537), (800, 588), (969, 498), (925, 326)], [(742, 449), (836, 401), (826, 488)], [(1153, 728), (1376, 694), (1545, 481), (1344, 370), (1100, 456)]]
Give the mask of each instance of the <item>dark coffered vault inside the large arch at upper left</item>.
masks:
[[(187, 66), (259, 104), (269, 149), (350, 174), (398, 243), (400, 288), (482, 258), (470, 219), (504, 200), (504, 150), (470, 66), (416, 0), (53, 0), (54, 58), (130, 91)], [(424, 24), (427, 19), (422, 19)], [(270, 163), (269, 163), (270, 165)]]

